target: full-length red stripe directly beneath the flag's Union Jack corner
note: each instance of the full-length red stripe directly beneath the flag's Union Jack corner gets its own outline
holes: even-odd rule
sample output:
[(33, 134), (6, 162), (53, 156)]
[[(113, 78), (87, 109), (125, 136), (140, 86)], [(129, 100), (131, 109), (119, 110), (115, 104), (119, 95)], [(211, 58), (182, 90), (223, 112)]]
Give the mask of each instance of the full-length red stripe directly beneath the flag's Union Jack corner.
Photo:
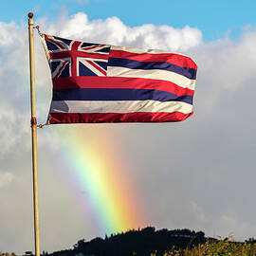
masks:
[(122, 78), (122, 77), (96, 77), (81, 76), (73, 78), (54, 78), (53, 89), (75, 89), (75, 88), (123, 88), (123, 89), (153, 89), (167, 91), (177, 96), (191, 95), (194, 91), (183, 88), (174, 82), (162, 80), (151, 80), (142, 78)]

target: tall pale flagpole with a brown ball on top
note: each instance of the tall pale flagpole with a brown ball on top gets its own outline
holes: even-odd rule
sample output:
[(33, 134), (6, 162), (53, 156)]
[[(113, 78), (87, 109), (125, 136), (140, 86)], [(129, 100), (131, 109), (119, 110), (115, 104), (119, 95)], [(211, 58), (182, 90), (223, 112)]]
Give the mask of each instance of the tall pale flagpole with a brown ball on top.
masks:
[(28, 13), (35, 255), (40, 256), (33, 13)]

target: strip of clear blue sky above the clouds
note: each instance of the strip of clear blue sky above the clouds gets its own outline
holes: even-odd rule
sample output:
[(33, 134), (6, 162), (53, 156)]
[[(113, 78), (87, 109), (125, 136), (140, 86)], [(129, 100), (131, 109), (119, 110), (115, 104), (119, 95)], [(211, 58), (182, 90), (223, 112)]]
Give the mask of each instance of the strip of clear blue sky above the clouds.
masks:
[(90, 20), (118, 16), (129, 27), (142, 24), (190, 25), (203, 32), (205, 41), (222, 38), (227, 32), (230, 38), (237, 38), (245, 26), (256, 24), (256, 2), (253, 0), (14, 0), (11, 5), (9, 1), (1, 3), (1, 21), (19, 23), (26, 19), (28, 11), (33, 11), (35, 18), (47, 16), (55, 19), (63, 8), (70, 15), (83, 11)]

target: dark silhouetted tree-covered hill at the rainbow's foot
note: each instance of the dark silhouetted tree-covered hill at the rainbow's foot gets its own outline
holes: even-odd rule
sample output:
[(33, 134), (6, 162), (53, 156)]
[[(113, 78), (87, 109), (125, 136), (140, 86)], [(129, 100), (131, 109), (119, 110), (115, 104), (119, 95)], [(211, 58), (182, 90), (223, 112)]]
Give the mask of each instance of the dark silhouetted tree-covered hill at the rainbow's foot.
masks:
[[(98, 237), (89, 242), (84, 239), (77, 242), (73, 249), (53, 252), (49, 256), (75, 256), (82, 253), (95, 256), (146, 256), (157, 251), (157, 255), (172, 248), (193, 247), (205, 243), (205, 233), (190, 229), (160, 229), (148, 227), (129, 230), (125, 233), (112, 234), (104, 239)], [(134, 253), (136, 252), (136, 254)]]

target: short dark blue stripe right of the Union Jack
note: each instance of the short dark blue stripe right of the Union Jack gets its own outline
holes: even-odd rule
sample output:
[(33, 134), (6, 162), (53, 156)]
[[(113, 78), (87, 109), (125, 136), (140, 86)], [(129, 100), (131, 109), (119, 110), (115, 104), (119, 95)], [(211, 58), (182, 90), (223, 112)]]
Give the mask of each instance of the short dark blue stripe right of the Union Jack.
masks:
[(108, 59), (108, 65), (121, 66), (131, 69), (161, 69), (166, 71), (172, 71), (188, 79), (196, 79), (196, 69), (189, 67), (182, 67), (176, 64), (170, 64), (167, 62), (138, 62), (134, 60), (112, 58)]

